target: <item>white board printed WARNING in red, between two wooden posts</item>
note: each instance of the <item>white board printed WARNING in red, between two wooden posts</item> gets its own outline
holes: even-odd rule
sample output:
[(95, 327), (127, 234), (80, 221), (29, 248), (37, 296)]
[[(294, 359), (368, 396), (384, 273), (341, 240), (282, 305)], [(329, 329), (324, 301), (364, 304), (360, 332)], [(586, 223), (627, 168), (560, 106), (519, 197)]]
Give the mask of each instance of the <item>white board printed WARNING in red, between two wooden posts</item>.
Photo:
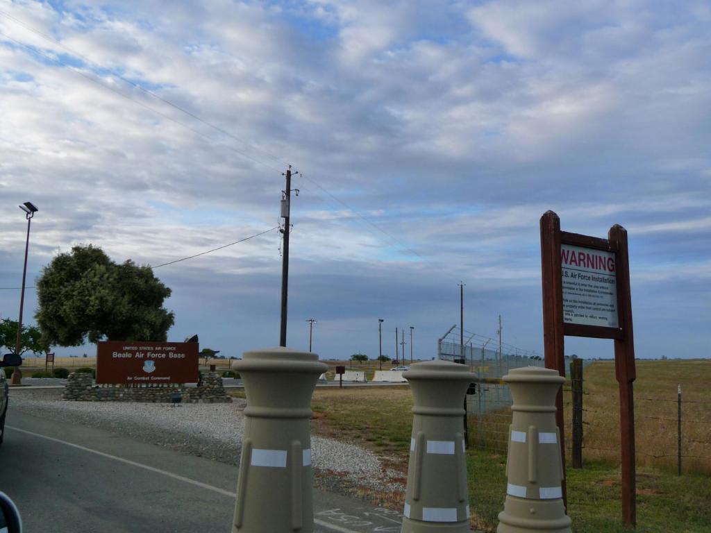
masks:
[(615, 254), (561, 244), (563, 321), (618, 328)]

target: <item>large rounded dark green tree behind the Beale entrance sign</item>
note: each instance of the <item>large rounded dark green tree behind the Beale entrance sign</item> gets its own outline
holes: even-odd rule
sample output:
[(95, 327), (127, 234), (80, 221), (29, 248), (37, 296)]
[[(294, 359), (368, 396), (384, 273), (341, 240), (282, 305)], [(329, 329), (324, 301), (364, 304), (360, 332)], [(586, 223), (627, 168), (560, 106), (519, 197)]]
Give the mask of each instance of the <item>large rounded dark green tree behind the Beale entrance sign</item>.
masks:
[(171, 289), (149, 266), (117, 264), (91, 244), (59, 254), (36, 282), (37, 322), (46, 342), (78, 346), (89, 340), (165, 341), (173, 325), (163, 307)]

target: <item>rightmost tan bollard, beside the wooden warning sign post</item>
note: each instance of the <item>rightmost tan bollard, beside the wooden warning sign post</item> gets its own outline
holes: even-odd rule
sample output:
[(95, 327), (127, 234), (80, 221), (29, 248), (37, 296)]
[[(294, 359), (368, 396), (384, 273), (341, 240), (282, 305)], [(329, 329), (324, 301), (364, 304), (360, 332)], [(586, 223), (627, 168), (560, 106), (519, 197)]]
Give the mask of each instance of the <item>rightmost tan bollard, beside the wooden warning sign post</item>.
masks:
[(525, 367), (502, 378), (511, 387), (513, 421), (506, 461), (506, 502), (498, 533), (570, 533), (561, 482), (555, 397), (565, 378), (555, 370)]

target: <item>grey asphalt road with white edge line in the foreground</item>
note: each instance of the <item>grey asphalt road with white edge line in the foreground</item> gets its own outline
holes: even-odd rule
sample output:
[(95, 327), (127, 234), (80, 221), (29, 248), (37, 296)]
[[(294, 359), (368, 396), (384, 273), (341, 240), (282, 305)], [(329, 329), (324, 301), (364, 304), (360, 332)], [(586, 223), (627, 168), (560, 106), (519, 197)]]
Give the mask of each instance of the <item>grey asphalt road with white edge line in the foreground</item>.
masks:
[[(237, 468), (10, 409), (0, 490), (27, 533), (228, 533)], [(278, 502), (275, 502), (278, 505)], [(400, 532), (397, 512), (314, 491), (319, 533)]]

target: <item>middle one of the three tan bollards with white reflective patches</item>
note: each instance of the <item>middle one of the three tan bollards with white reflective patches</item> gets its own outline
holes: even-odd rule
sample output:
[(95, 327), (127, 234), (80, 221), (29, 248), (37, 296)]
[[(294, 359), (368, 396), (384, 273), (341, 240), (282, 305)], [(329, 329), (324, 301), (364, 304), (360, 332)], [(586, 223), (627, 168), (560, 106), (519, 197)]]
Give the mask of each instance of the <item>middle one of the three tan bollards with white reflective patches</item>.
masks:
[(437, 360), (402, 376), (415, 398), (402, 533), (469, 532), (462, 405), (476, 374)]

